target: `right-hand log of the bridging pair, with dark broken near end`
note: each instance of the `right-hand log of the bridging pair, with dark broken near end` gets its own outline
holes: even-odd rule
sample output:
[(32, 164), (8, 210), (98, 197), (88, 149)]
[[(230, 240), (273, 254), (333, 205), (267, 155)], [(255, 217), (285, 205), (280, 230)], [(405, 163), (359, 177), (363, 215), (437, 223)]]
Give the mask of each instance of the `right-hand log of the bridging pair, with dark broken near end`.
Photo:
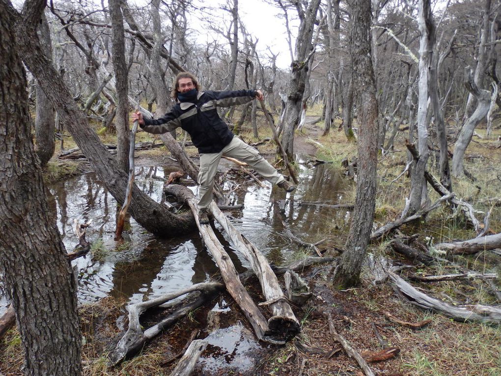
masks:
[[(187, 194), (188, 192), (191, 194), (191, 191), (186, 190)], [(261, 251), (236, 230), (214, 202), (209, 205), (208, 209), (228, 234), (235, 249), (243, 255), (259, 278), (265, 299), (271, 301), (284, 297), (277, 276), (273, 273), (268, 260)], [(268, 320), (270, 330), (281, 333), (285, 338), (299, 333), (299, 321), (286, 301), (279, 300), (271, 304), (270, 309), (273, 313), (273, 317)]]

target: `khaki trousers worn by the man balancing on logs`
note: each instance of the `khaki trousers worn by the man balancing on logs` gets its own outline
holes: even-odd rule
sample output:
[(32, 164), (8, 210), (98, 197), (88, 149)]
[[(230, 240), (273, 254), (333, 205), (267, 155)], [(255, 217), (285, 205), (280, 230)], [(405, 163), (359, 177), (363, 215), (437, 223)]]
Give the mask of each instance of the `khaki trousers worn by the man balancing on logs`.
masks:
[(200, 172), (198, 173), (198, 209), (205, 209), (212, 201), (212, 187), (214, 177), (217, 172), (217, 165), (221, 156), (238, 159), (254, 168), (263, 178), (272, 184), (278, 184), (285, 180), (284, 176), (263, 158), (259, 151), (247, 145), (237, 137), (233, 137), (231, 142), (218, 153), (200, 154)]

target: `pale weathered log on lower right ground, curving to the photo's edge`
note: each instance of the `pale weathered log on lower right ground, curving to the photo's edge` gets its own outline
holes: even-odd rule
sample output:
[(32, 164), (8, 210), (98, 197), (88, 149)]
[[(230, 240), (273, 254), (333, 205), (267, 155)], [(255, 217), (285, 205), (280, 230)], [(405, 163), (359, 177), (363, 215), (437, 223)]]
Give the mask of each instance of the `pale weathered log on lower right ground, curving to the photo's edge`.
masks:
[(493, 324), (501, 322), (501, 308), (479, 304), (453, 306), (416, 290), (392, 270), (388, 271), (388, 276), (393, 281), (395, 292), (420, 308), (441, 313), (460, 322), (480, 321)]

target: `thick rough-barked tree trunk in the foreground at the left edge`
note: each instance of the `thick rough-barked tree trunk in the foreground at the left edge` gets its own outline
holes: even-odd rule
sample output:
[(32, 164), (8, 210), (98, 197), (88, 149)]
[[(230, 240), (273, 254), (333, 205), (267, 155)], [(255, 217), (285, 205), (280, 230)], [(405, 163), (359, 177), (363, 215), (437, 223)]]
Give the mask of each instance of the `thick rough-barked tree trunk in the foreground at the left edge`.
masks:
[[(27, 14), (33, 9), (24, 12), (25, 28), (33, 36), (44, 3), (37, 6), (38, 17)], [(4, 119), (0, 124), (0, 274), (16, 310), (25, 374), (78, 375), (77, 286), (47, 205), (31, 140), (26, 75), (8, 7), (0, 2), (0, 116)]]

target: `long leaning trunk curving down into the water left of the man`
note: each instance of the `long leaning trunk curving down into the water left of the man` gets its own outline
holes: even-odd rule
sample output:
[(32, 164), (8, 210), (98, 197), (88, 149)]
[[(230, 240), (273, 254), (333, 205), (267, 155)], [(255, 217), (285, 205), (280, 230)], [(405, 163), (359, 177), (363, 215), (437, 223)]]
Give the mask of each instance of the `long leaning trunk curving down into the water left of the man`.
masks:
[[(27, 0), (25, 4), (34, 7), (40, 3), (43, 1)], [(55, 107), (60, 109), (61, 121), (67, 125), (92, 168), (118, 204), (122, 205), (125, 199), (127, 174), (116, 165), (116, 160), (102, 144), (96, 132), (88, 125), (87, 117), (77, 107), (59, 73), (40, 53), (40, 46), (34, 32), (13, 8), (9, 8), (9, 17), (10, 22), (16, 27), (16, 42), (24, 63), (39, 80)], [(190, 213), (185, 216), (173, 215), (144, 194), (135, 184), (129, 212), (141, 226), (159, 236), (173, 236), (192, 229), (194, 226)]]

